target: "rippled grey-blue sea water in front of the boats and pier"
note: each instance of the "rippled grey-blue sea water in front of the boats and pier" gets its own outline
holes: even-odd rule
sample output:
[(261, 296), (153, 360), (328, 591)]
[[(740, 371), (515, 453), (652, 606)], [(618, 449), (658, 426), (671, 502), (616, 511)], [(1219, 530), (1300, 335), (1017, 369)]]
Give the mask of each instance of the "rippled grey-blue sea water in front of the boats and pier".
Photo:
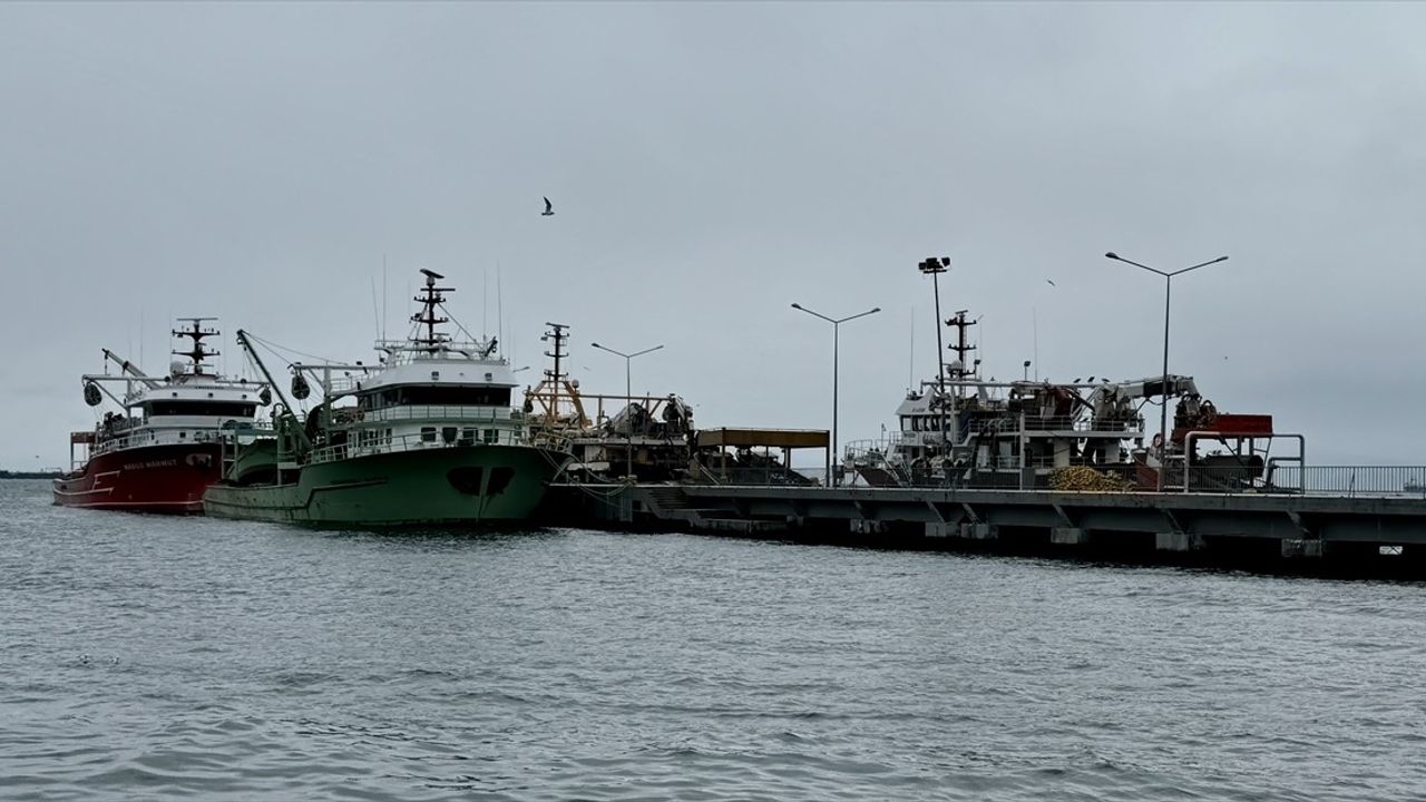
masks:
[(0, 798), (1413, 798), (1422, 592), (0, 482)]

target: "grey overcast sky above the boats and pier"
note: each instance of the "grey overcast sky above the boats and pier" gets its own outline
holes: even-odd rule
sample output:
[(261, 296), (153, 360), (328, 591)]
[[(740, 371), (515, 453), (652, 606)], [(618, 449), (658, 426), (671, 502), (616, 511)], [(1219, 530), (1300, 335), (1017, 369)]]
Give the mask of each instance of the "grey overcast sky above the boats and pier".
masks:
[(575, 377), (622, 392), (588, 344), (663, 342), (636, 390), (703, 427), (829, 427), (831, 331), (789, 304), (880, 305), (843, 330), (846, 442), (934, 374), (931, 254), (988, 374), (1156, 374), (1162, 280), (1107, 250), (1232, 257), (1174, 291), (1171, 368), (1219, 410), (1316, 464), (1422, 464), (1422, 30), (1359, 3), (4, 3), (0, 465), (63, 464), (100, 347), (161, 371), (175, 315), (369, 358), (384, 255), (389, 330), (431, 267), (493, 331), (499, 265), (516, 365), (568, 323)]

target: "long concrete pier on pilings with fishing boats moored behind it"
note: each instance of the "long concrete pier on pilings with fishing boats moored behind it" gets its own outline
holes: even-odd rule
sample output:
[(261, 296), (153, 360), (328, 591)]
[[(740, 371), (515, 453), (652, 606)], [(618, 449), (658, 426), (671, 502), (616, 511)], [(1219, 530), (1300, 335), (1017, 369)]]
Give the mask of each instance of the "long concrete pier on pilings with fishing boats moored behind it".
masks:
[(1426, 498), (556, 485), (546, 522), (1426, 578)]

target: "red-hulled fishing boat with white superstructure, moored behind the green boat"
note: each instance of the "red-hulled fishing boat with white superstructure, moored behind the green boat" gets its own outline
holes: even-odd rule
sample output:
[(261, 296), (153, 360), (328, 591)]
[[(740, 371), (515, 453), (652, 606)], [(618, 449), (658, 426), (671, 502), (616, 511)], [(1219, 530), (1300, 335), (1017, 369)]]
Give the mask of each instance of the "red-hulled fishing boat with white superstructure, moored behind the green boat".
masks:
[[(153, 377), (104, 350), (118, 374), (83, 377), (84, 402), (100, 407), (107, 397), (121, 411), (106, 411), (91, 431), (70, 434), (73, 469), (54, 479), (54, 504), (135, 512), (202, 512), (202, 492), (222, 475), (222, 460), (238, 438), (257, 437), (258, 407), (268, 404), (267, 385), (214, 372), (217, 357), (204, 345), (215, 337), (204, 321), (183, 318), (173, 331), (187, 340), (174, 351), (167, 377)], [(110, 387), (116, 387), (110, 390)]]

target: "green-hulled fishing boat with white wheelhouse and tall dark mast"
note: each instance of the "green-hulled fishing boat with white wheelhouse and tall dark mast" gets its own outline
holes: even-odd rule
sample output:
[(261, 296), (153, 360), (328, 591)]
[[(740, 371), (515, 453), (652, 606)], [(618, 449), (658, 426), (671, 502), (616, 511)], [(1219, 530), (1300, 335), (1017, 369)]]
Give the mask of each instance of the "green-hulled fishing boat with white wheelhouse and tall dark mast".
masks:
[[(378, 341), (378, 365), (291, 367), (292, 397), (317, 384), (319, 401), (299, 418), (279, 392), (275, 437), (225, 455), (224, 479), (204, 494), (208, 515), (399, 527), (519, 524), (535, 512), (570, 455), (530, 444), (496, 338), (439, 331), (453, 288), (422, 273), (415, 330)], [(238, 342), (271, 381), (252, 337), (240, 331)]]

